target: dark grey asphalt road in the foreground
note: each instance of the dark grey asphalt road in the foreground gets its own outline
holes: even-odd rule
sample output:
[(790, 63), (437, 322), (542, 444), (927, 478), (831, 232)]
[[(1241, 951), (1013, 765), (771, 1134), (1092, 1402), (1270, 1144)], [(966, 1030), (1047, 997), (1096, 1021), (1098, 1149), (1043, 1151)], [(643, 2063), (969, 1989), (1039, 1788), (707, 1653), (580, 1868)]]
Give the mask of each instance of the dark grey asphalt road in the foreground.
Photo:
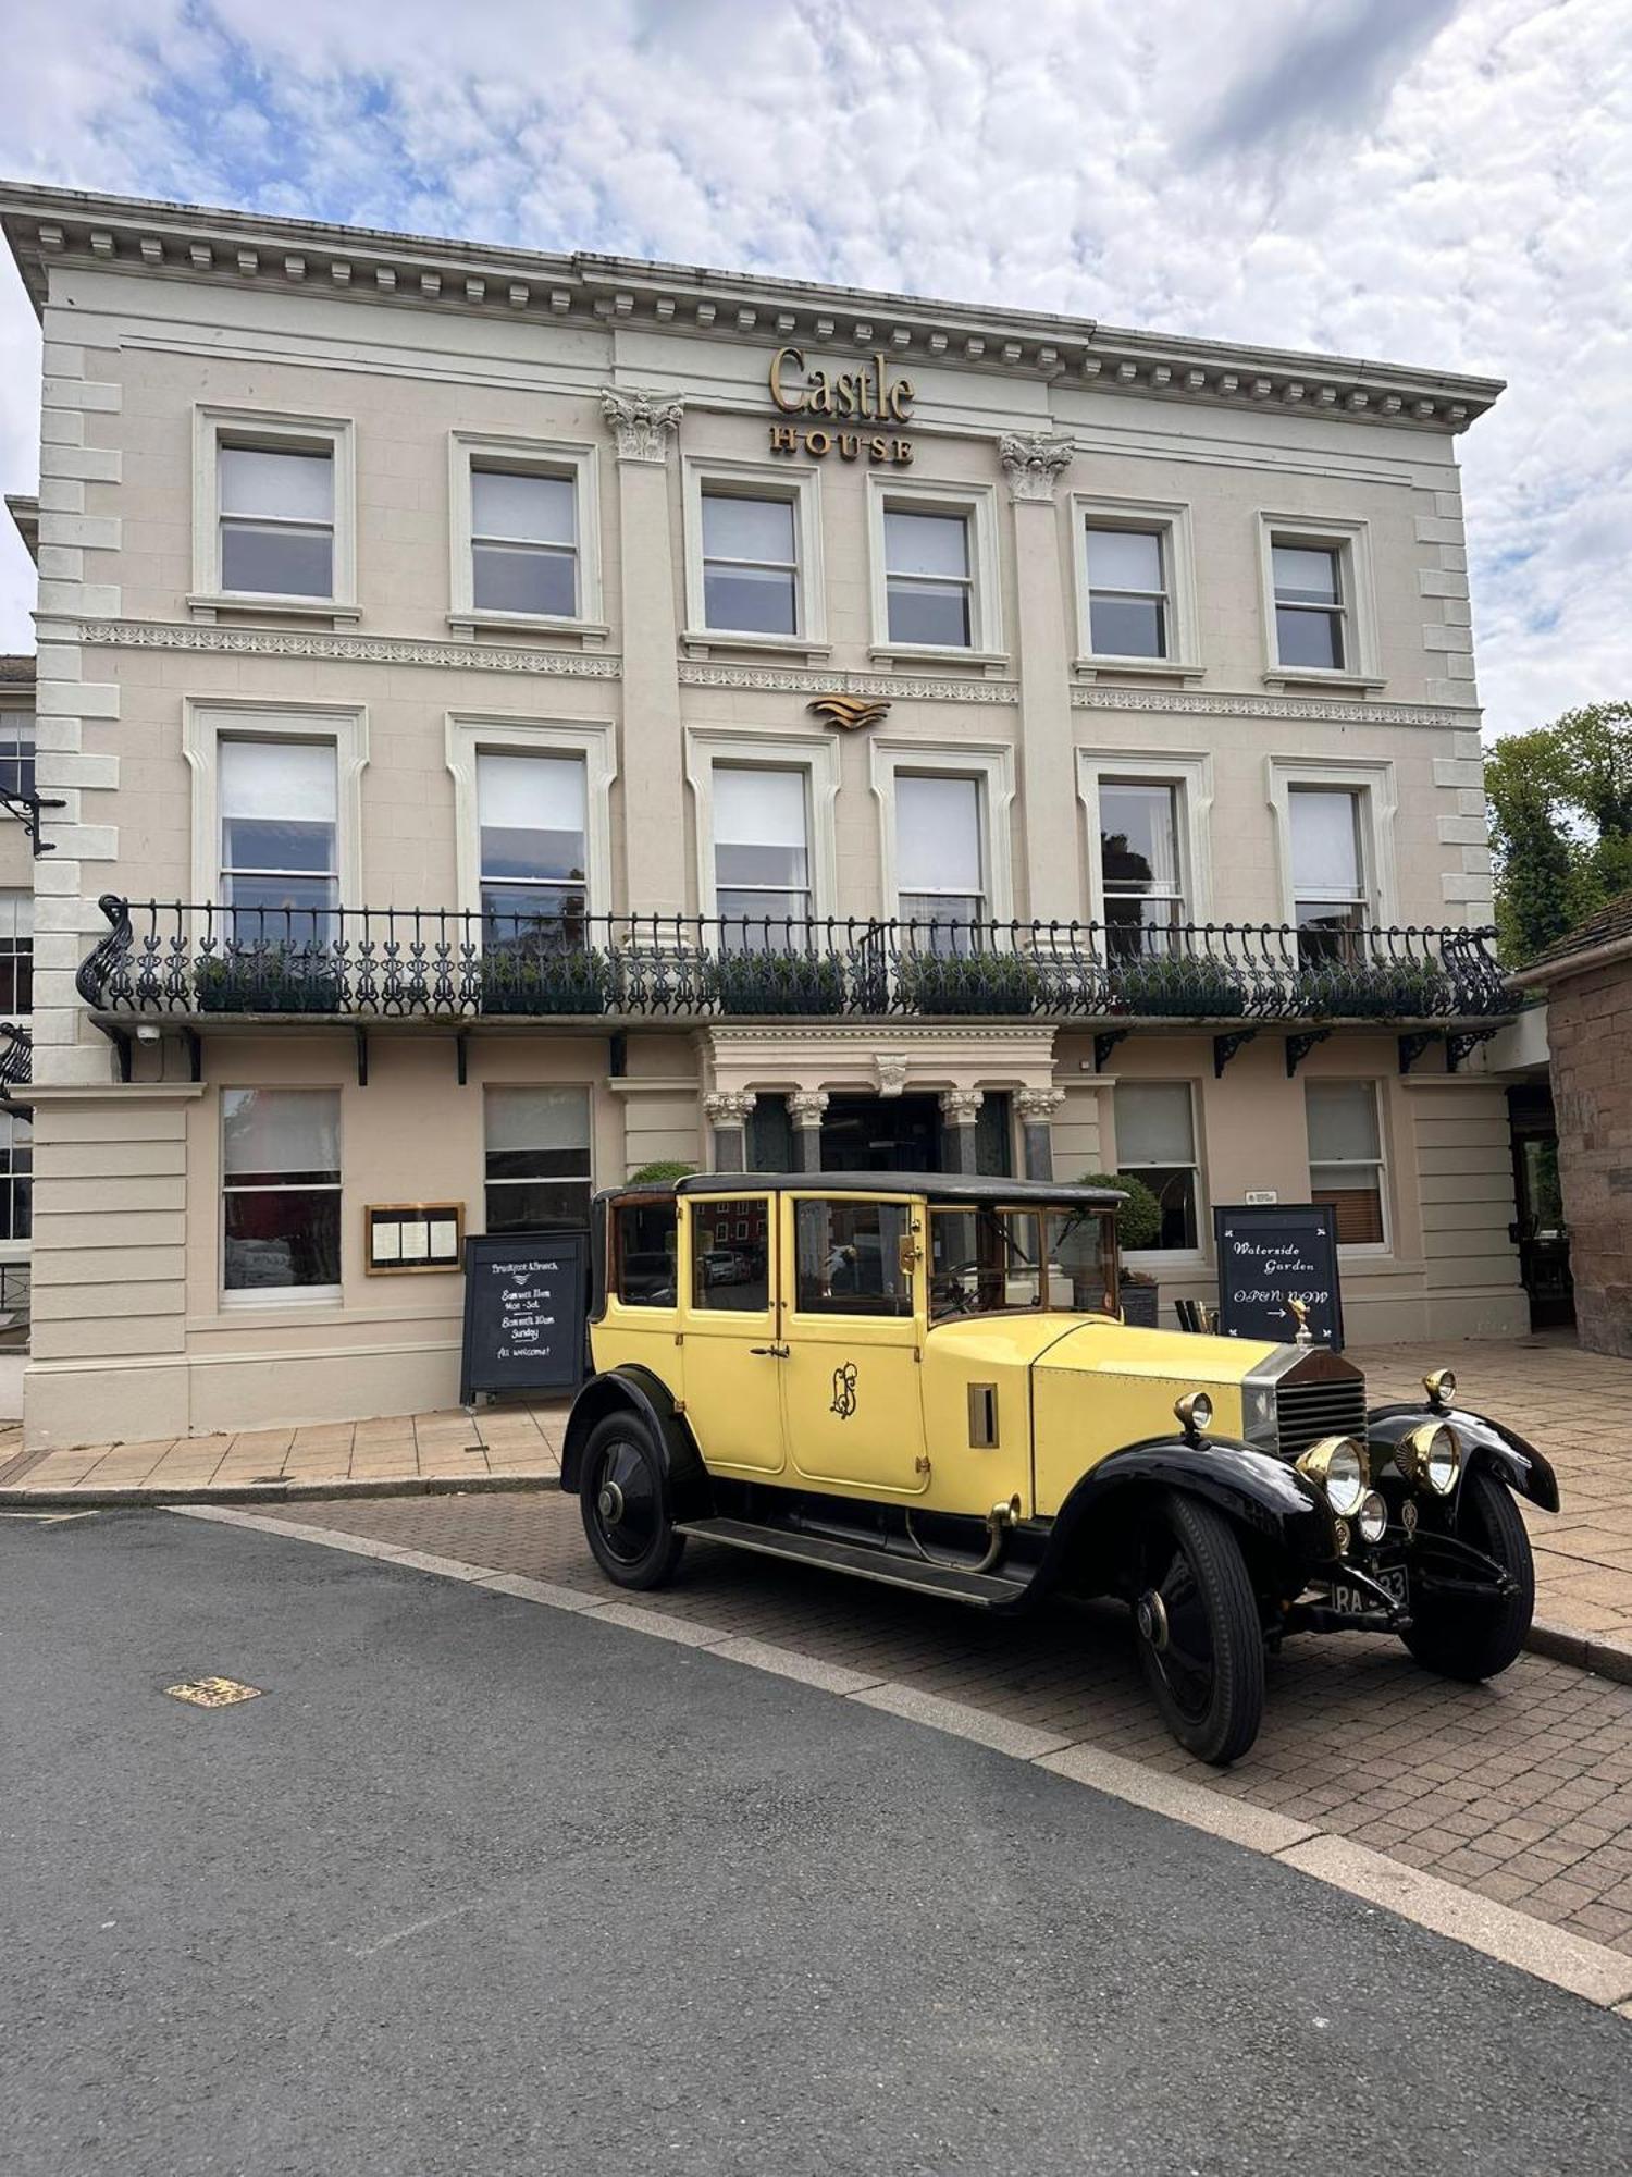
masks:
[(1288, 1868), (165, 1513), (0, 1522), (0, 1855), (7, 2177), (1632, 2166), (1623, 2020)]

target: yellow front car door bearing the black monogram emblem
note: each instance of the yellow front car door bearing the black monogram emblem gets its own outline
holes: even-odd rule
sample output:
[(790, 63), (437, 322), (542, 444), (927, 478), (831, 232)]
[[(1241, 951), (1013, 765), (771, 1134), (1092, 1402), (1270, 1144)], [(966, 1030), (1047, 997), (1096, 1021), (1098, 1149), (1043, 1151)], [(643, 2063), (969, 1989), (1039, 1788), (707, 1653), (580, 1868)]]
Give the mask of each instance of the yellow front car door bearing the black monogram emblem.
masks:
[(857, 1496), (920, 1496), (920, 1210), (905, 1197), (781, 1202), (783, 1441), (801, 1476)]

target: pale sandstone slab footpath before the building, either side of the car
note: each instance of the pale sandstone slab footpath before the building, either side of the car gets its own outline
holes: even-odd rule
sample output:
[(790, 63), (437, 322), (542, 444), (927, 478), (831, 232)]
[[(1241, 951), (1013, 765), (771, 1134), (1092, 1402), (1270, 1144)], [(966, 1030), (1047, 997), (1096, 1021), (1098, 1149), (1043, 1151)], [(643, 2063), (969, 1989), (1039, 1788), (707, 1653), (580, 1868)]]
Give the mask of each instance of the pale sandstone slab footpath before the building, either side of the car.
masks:
[[(1632, 1361), (1558, 1335), (1358, 1348), (1375, 1400), (1421, 1398), (1454, 1363), (1460, 1398), (1532, 1437), (1560, 1474), (1558, 1517), (1525, 1506), (1538, 1646), (1632, 1678)], [(39, 1502), (276, 1502), (331, 1491), (540, 1487), (559, 1474), (568, 1402), (503, 1402), (311, 1428), (102, 1443), (24, 1454), (0, 1430), (0, 1506)]]

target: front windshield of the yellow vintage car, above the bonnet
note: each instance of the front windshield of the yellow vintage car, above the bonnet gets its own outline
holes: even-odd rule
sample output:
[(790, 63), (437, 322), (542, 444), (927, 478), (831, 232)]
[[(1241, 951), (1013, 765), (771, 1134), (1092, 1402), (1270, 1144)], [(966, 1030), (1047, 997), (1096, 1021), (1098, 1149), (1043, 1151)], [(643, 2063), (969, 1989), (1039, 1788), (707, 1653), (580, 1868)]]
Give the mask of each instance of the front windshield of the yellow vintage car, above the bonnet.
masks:
[(929, 1315), (1116, 1313), (1114, 1210), (931, 1208)]

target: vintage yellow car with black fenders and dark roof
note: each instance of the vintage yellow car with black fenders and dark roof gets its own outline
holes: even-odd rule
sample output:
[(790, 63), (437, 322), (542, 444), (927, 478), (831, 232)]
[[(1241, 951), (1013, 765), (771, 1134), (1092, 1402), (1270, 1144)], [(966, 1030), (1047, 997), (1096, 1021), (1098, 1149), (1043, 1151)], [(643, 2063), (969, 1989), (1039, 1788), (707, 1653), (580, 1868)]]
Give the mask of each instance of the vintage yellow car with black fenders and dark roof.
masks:
[(1129, 1328), (1118, 1202), (925, 1173), (596, 1195), (561, 1487), (601, 1567), (659, 1587), (705, 1535), (990, 1611), (1116, 1596), (1203, 1761), (1251, 1746), (1288, 1633), (1506, 1670), (1534, 1609), (1514, 1491), (1558, 1509), (1541, 1452), (1449, 1369), (1369, 1411), (1323, 1348)]

